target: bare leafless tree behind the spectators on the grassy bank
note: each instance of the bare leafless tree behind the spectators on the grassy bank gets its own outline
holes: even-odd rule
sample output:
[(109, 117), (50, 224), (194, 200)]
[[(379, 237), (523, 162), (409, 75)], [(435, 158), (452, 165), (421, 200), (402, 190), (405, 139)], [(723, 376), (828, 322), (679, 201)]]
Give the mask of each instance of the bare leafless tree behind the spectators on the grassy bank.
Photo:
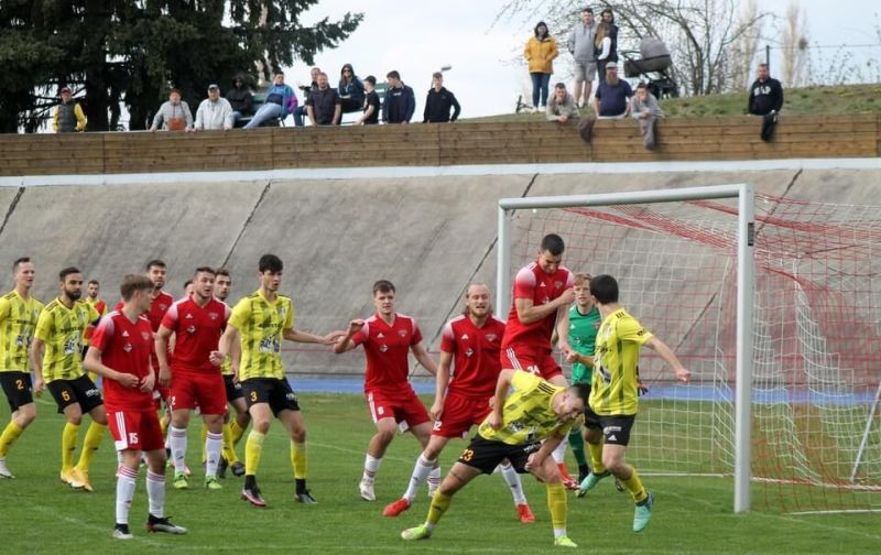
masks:
[[(599, 10), (613, 11), (621, 30), (619, 48), (631, 48), (646, 36), (664, 41), (673, 58), (673, 74), (679, 89), (690, 95), (709, 95), (737, 89), (731, 80), (732, 46), (760, 26), (769, 12), (738, 17), (736, 0), (600, 0)], [(584, 2), (566, 0), (547, 6), (542, 0), (509, 0), (500, 18), (542, 11), (555, 29), (567, 30), (578, 21)]]

